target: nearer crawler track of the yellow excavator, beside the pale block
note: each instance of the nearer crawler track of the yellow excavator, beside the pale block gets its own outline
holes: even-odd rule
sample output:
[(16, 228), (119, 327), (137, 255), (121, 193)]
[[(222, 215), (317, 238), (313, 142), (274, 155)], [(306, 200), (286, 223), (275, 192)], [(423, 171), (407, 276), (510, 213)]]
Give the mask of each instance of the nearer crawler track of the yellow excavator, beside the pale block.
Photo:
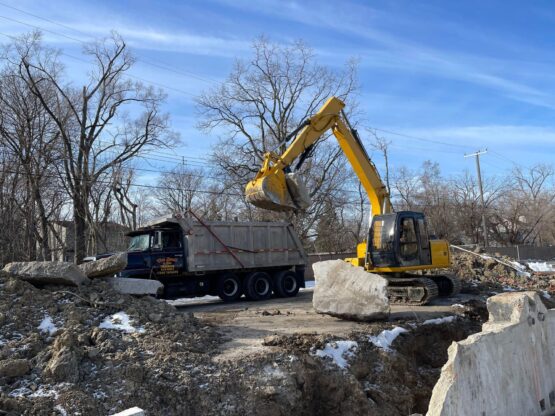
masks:
[(428, 277), (408, 275), (386, 279), (389, 282), (387, 291), (390, 303), (425, 305), (439, 295), (437, 284)]

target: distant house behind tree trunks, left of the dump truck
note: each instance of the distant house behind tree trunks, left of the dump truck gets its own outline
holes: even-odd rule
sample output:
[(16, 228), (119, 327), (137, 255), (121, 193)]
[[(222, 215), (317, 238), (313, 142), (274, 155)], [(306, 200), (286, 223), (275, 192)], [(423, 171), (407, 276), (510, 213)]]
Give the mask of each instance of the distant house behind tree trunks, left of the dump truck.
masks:
[[(52, 252), (52, 261), (74, 260), (75, 233), (72, 221), (54, 221), (48, 242)], [(95, 225), (96, 235), (88, 233), (87, 255), (124, 251), (127, 249), (131, 229), (124, 225), (109, 221)]]

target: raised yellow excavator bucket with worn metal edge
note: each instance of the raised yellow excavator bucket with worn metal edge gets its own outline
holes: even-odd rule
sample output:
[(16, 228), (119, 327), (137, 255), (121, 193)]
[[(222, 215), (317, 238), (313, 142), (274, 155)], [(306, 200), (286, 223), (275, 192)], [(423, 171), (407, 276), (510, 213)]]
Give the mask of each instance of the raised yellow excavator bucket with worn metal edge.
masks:
[(271, 211), (306, 209), (311, 202), (301, 178), (281, 170), (267, 172), (250, 181), (245, 189), (245, 197), (254, 206)]

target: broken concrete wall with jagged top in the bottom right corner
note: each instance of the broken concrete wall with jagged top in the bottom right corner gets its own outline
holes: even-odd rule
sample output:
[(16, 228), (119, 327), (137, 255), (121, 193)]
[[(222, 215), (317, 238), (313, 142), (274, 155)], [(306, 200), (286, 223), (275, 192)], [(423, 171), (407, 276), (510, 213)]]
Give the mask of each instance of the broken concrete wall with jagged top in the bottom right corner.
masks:
[(536, 292), (488, 299), (482, 332), (449, 347), (428, 416), (555, 412), (555, 309)]

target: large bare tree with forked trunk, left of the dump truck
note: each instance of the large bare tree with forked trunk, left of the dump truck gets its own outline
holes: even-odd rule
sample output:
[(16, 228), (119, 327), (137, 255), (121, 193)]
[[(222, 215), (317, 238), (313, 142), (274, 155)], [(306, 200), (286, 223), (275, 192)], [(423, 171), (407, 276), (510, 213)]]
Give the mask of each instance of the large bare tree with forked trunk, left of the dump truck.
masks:
[[(160, 110), (164, 94), (126, 76), (134, 59), (117, 34), (85, 48), (93, 67), (82, 88), (64, 82), (56, 52), (45, 48), (39, 35), (24, 39), (15, 51), (19, 75), (60, 138), (60, 174), (73, 204), (75, 261), (81, 262), (94, 184), (149, 147), (169, 146), (176, 140)], [(128, 108), (139, 115), (131, 118)]]

